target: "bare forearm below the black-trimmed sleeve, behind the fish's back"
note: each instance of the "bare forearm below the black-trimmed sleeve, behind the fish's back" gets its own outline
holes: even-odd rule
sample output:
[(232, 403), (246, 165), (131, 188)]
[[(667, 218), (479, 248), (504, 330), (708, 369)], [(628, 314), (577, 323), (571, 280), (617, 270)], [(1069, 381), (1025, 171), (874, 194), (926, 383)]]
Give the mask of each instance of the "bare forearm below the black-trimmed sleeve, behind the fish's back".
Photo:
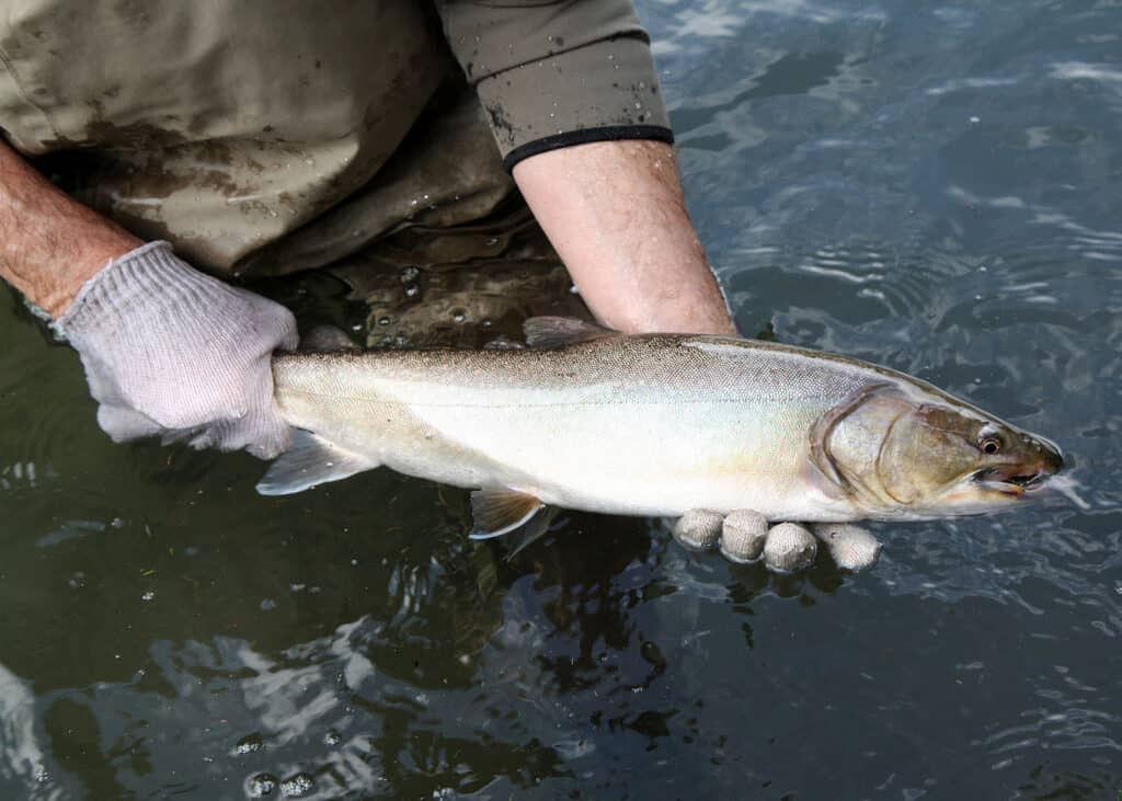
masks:
[(603, 323), (626, 332), (736, 333), (669, 145), (550, 150), (515, 165), (514, 179)]

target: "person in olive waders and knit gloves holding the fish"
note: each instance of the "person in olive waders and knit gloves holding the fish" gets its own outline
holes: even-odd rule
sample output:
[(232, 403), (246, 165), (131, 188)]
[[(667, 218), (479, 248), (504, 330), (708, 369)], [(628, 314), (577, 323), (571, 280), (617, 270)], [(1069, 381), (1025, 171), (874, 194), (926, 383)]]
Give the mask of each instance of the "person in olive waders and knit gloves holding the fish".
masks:
[(295, 321), (222, 279), (454, 238), (516, 193), (601, 323), (735, 334), (629, 0), (28, 0), (0, 65), (0, 277), (114, 441), (275, 457)]

